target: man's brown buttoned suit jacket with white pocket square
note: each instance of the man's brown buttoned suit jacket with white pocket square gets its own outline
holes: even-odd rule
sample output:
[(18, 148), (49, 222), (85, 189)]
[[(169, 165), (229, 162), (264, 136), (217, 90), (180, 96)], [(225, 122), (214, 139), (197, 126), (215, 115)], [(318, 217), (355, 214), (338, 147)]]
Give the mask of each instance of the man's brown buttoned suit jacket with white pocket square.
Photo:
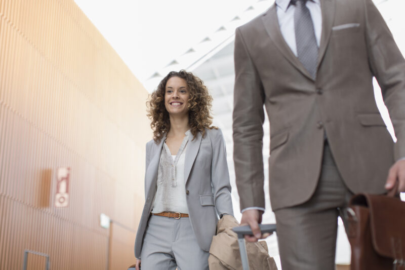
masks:
[[(241, 209), (264, 207), (263, 104), (270, 120), (273, 210), (313, 194), (326, 132), (344, 182), (380, 194), (393, 162), (405, 157), (405, 62), (371, 0), (321, 0), (316, 80), (279, 30), (276, 7), (235, 37), (233, 139)], [(397, 142), (377, 108), (381, 87)]]

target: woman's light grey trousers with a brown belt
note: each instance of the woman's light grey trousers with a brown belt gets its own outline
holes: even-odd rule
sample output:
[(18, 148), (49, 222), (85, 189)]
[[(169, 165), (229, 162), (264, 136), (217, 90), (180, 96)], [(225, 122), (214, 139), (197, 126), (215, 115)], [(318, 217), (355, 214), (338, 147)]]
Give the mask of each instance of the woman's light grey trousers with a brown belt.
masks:
[(150, 216), (141, 251), (142, 270), (208, 270), (188, 217)]

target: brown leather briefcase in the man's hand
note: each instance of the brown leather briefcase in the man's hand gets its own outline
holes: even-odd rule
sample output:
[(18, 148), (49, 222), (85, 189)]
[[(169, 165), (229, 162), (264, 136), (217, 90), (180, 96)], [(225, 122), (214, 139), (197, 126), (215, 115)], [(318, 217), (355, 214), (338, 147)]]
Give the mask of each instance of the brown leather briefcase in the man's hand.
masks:
[(405, 202), (359, 194), (348, 207), (351, 270), (405, 270)]

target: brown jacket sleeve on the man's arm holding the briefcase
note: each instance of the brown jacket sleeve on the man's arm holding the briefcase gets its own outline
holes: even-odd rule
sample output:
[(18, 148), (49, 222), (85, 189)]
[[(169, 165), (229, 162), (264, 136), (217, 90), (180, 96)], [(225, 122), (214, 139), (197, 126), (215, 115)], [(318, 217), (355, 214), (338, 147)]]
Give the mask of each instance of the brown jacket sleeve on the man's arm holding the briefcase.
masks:
[(370, 66), (395, 130), (397, 161), (405, 157), (405, 61), (376, 6), (371, 0), (365, 0), (365, 6)]

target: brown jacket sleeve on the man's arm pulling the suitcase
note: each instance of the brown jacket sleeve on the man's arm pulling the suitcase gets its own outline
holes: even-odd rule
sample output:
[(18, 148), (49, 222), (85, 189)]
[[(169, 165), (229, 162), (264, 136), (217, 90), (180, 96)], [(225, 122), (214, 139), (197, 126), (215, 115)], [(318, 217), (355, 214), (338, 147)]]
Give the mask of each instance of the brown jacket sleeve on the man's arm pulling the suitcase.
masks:
[(240, 29), (236, 29), (234, 60), (233, 160), (240, 209), (264, 208), (264, 91)]

